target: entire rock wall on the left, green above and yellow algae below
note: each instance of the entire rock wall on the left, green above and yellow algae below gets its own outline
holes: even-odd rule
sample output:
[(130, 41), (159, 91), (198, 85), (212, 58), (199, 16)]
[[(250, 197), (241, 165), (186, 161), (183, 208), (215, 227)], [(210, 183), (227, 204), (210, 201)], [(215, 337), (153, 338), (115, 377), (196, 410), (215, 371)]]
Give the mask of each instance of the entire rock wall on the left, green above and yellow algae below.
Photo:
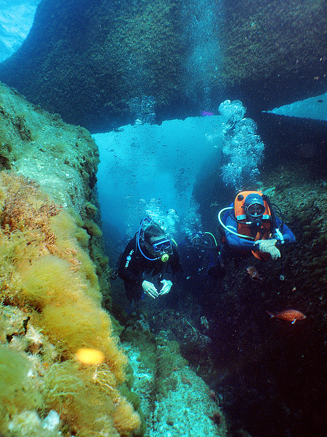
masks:
[(101, 305), (96, 146), (4, 85), (0, 134), (0, 434), (128, 436), (140, 417)]

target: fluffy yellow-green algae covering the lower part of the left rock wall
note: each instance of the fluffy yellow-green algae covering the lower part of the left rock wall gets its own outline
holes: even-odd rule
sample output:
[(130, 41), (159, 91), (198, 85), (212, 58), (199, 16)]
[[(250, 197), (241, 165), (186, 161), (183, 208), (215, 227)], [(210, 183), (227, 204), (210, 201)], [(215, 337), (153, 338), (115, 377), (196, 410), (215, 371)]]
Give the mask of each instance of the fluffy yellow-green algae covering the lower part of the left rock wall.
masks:
[[(140, 417), (119, 392), (127, 357), (76, 220), (22, 175), (2, 171), (0, 185), (1, 435), (27, 435), (50, 410), (69, 434), (129, 435)], [(81, 348), (102, 359), (83, 364)], [(35, 423), (30, 435), (46, 435)]]

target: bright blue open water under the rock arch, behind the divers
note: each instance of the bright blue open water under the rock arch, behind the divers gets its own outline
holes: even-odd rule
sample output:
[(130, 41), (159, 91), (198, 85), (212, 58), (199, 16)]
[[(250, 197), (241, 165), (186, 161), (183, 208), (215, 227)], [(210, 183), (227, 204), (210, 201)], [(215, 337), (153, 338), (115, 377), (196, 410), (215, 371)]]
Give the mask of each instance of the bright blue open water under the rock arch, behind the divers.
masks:
[[(201, 172), (220, 161), (221, 125), (218, 116), (194, 117), (94, 134), (100, 151), (97, 189), (105, 228), (117, 227), (121, 237), (131, 236), (140, 220), (150, 215), (172, 234), (190, 231), (196, 221), (189, 212), (193, 185)], [(171, 209), (178, 217), (167, 214)]]

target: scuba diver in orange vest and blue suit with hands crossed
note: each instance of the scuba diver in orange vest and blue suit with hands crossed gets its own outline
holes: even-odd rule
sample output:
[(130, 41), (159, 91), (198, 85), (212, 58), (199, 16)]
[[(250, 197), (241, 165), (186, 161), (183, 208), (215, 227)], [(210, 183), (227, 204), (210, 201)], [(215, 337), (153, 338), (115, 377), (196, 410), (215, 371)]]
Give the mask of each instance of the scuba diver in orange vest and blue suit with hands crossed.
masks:
[(239, 192), (234, 202), (219, 212), (218, 220), (225, 230), (225, 249), (251, 252), (262, 261), (277, 260), (279, 247), (295, 242), (293, 232), (275, 215), (268, 196), (261, 191)]

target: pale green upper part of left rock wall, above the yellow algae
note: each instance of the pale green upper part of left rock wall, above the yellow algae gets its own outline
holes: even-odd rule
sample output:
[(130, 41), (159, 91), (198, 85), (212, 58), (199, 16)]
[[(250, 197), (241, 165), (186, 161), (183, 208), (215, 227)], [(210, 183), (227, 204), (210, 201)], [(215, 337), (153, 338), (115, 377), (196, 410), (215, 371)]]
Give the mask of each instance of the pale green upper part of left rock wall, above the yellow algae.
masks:
[(0, 84), (0, 163), (38, 182), (57, 203), (82, 211), (92, 196), (99, 153), (90, 133), (65, 124)]

